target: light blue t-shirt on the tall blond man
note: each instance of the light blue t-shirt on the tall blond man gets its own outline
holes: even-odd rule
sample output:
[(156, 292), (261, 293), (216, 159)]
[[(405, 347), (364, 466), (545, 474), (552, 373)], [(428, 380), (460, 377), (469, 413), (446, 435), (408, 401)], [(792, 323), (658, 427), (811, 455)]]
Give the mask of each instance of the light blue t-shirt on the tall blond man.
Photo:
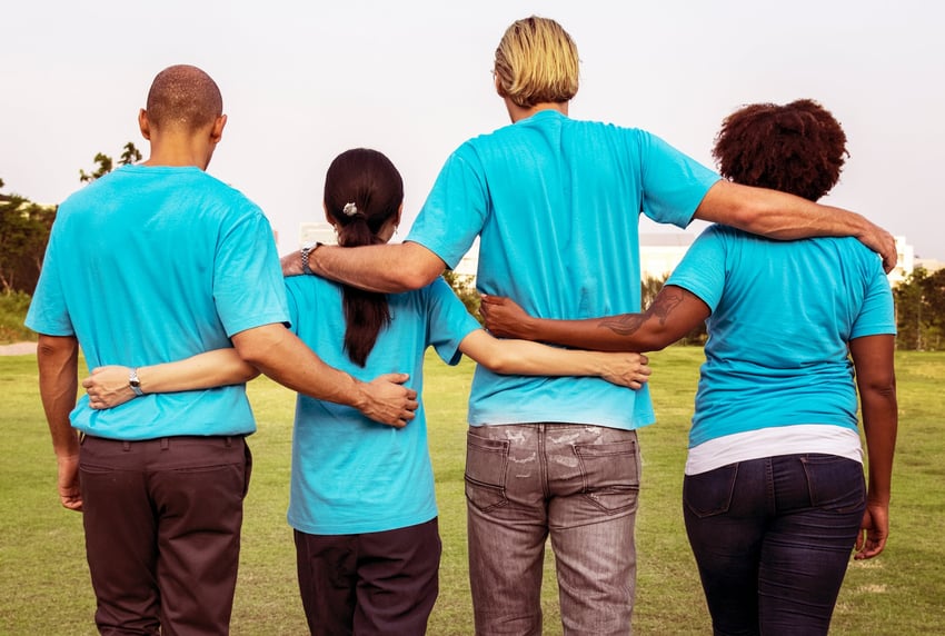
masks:
[[(639, 215), (685, 227), (718, 176), (636, 129), (537, 115), (447, 160), (407, 240), (456, 267), (480, 237), (477, 287), (541, 318), (639, 311)], [(469, 423), (653, 423), (647, 388), (479, 367)]]

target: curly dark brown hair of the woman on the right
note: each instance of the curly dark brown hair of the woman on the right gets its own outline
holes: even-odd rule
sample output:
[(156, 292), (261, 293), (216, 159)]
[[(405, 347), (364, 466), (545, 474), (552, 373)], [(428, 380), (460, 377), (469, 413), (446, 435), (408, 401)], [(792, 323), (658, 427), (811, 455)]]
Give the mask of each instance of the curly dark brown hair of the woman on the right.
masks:
[(810, 99), (736, 110), (722, 122), (712, 153), (722, 176), (736, 183), (810, 201), (830, 191), (849, 157), (839, 122)]

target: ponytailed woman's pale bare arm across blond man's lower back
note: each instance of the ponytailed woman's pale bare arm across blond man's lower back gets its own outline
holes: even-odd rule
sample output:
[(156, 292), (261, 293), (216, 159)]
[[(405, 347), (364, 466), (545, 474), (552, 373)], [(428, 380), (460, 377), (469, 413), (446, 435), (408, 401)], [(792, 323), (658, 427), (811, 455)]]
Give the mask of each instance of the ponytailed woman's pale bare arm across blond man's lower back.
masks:
[(483, 329), (470, 332), (459, 350), (497, 374), (521, 376), (597, 376), (615, 385), (638, 389), (650, 368), (646, 356), (556, 349), (527, 340), (497, 340)]

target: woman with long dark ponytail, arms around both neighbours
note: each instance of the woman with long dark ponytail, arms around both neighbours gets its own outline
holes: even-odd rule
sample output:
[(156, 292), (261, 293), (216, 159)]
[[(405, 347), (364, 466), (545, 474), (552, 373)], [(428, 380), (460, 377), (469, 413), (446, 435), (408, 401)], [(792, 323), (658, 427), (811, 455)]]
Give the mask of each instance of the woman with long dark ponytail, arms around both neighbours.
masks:
[[(376, 150), (348, 150), (328, 168), (325, 216), (341, 247), (390, 240), (402, 201), (400, 173)], [(497, 340), (441, 278), (389, 295), (317, 276), (287, 278), (286, 289), (291, 329), (326, 364), (360, 379), (406, 371), (418, 395), (428, 347), (448, 365), (466, 354), (501, 374), (597, 376), (629, 389), (649, 375), (637, 354)], [(138, 377), (149, 392), (185, 390), (208, 386), (208, 367), (219, 381), (219, 369), (238, 362), (231, 350), (212, 351), (139, 368)], [(126, 367), (103, 367), (83, 386), (93, 407), (108, 408), (135, 397), (127, 382)], [(441, 548), (422, 401), (412, 420), (389, 427), (299, 395), (288, 520), (312, 634), (424, 634)]]

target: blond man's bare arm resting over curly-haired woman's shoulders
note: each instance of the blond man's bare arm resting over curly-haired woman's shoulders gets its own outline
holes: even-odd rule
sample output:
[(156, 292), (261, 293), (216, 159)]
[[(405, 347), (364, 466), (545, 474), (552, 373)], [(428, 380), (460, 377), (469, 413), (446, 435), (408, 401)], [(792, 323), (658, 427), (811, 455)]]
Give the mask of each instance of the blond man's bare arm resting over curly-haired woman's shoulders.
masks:
[(777, 190), (717, 181), (696, 208), (695, 217), (780, 240), (856, 237), (883, 257), (887, 272), (898, 258), (893, 235), (861, 215)]

